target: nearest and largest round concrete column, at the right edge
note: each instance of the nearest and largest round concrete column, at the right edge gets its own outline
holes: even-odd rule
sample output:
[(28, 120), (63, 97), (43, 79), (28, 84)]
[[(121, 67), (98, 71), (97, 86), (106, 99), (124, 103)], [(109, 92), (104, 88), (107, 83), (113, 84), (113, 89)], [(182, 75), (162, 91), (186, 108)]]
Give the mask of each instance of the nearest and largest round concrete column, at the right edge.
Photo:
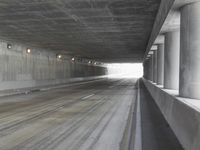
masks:
[(200, 99), (200, 2), (181, 9), (180, 96)]

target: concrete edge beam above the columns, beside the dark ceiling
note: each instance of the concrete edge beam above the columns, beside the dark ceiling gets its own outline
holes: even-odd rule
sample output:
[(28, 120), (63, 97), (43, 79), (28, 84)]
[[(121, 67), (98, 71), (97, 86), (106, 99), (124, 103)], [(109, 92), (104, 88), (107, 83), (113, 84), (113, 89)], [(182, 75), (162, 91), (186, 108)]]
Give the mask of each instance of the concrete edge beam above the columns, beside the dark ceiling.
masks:
[(199, 0), (161, 0), (144, 58), (160, 33), (180, 28), (180, 9), (195, 2)]

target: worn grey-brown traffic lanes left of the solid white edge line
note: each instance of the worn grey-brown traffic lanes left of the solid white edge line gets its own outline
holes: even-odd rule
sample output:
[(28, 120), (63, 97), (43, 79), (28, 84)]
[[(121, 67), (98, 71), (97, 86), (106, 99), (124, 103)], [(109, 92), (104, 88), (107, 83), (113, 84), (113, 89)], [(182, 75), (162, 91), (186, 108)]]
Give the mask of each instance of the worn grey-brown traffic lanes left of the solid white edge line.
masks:
[(0, 98), (0, 150), (120, 150), (136, 80)]

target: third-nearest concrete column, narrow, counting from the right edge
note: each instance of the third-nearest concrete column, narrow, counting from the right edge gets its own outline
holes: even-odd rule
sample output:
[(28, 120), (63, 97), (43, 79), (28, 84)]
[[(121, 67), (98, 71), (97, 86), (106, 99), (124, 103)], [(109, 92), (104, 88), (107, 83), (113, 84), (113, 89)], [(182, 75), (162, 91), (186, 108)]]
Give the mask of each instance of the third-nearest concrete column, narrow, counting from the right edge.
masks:
[(158, 45), (157, 51), (157, 84), (163, 85), (164, 82), (164, 44)]

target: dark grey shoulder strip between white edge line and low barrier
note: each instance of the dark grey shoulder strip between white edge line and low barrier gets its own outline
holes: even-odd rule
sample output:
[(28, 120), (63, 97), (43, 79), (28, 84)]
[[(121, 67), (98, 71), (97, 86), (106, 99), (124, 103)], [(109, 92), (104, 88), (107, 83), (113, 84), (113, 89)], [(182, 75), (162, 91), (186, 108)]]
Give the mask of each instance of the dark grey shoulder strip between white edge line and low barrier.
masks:
[(143, 82), (140, 101), (142, 150), (183, 150)]

